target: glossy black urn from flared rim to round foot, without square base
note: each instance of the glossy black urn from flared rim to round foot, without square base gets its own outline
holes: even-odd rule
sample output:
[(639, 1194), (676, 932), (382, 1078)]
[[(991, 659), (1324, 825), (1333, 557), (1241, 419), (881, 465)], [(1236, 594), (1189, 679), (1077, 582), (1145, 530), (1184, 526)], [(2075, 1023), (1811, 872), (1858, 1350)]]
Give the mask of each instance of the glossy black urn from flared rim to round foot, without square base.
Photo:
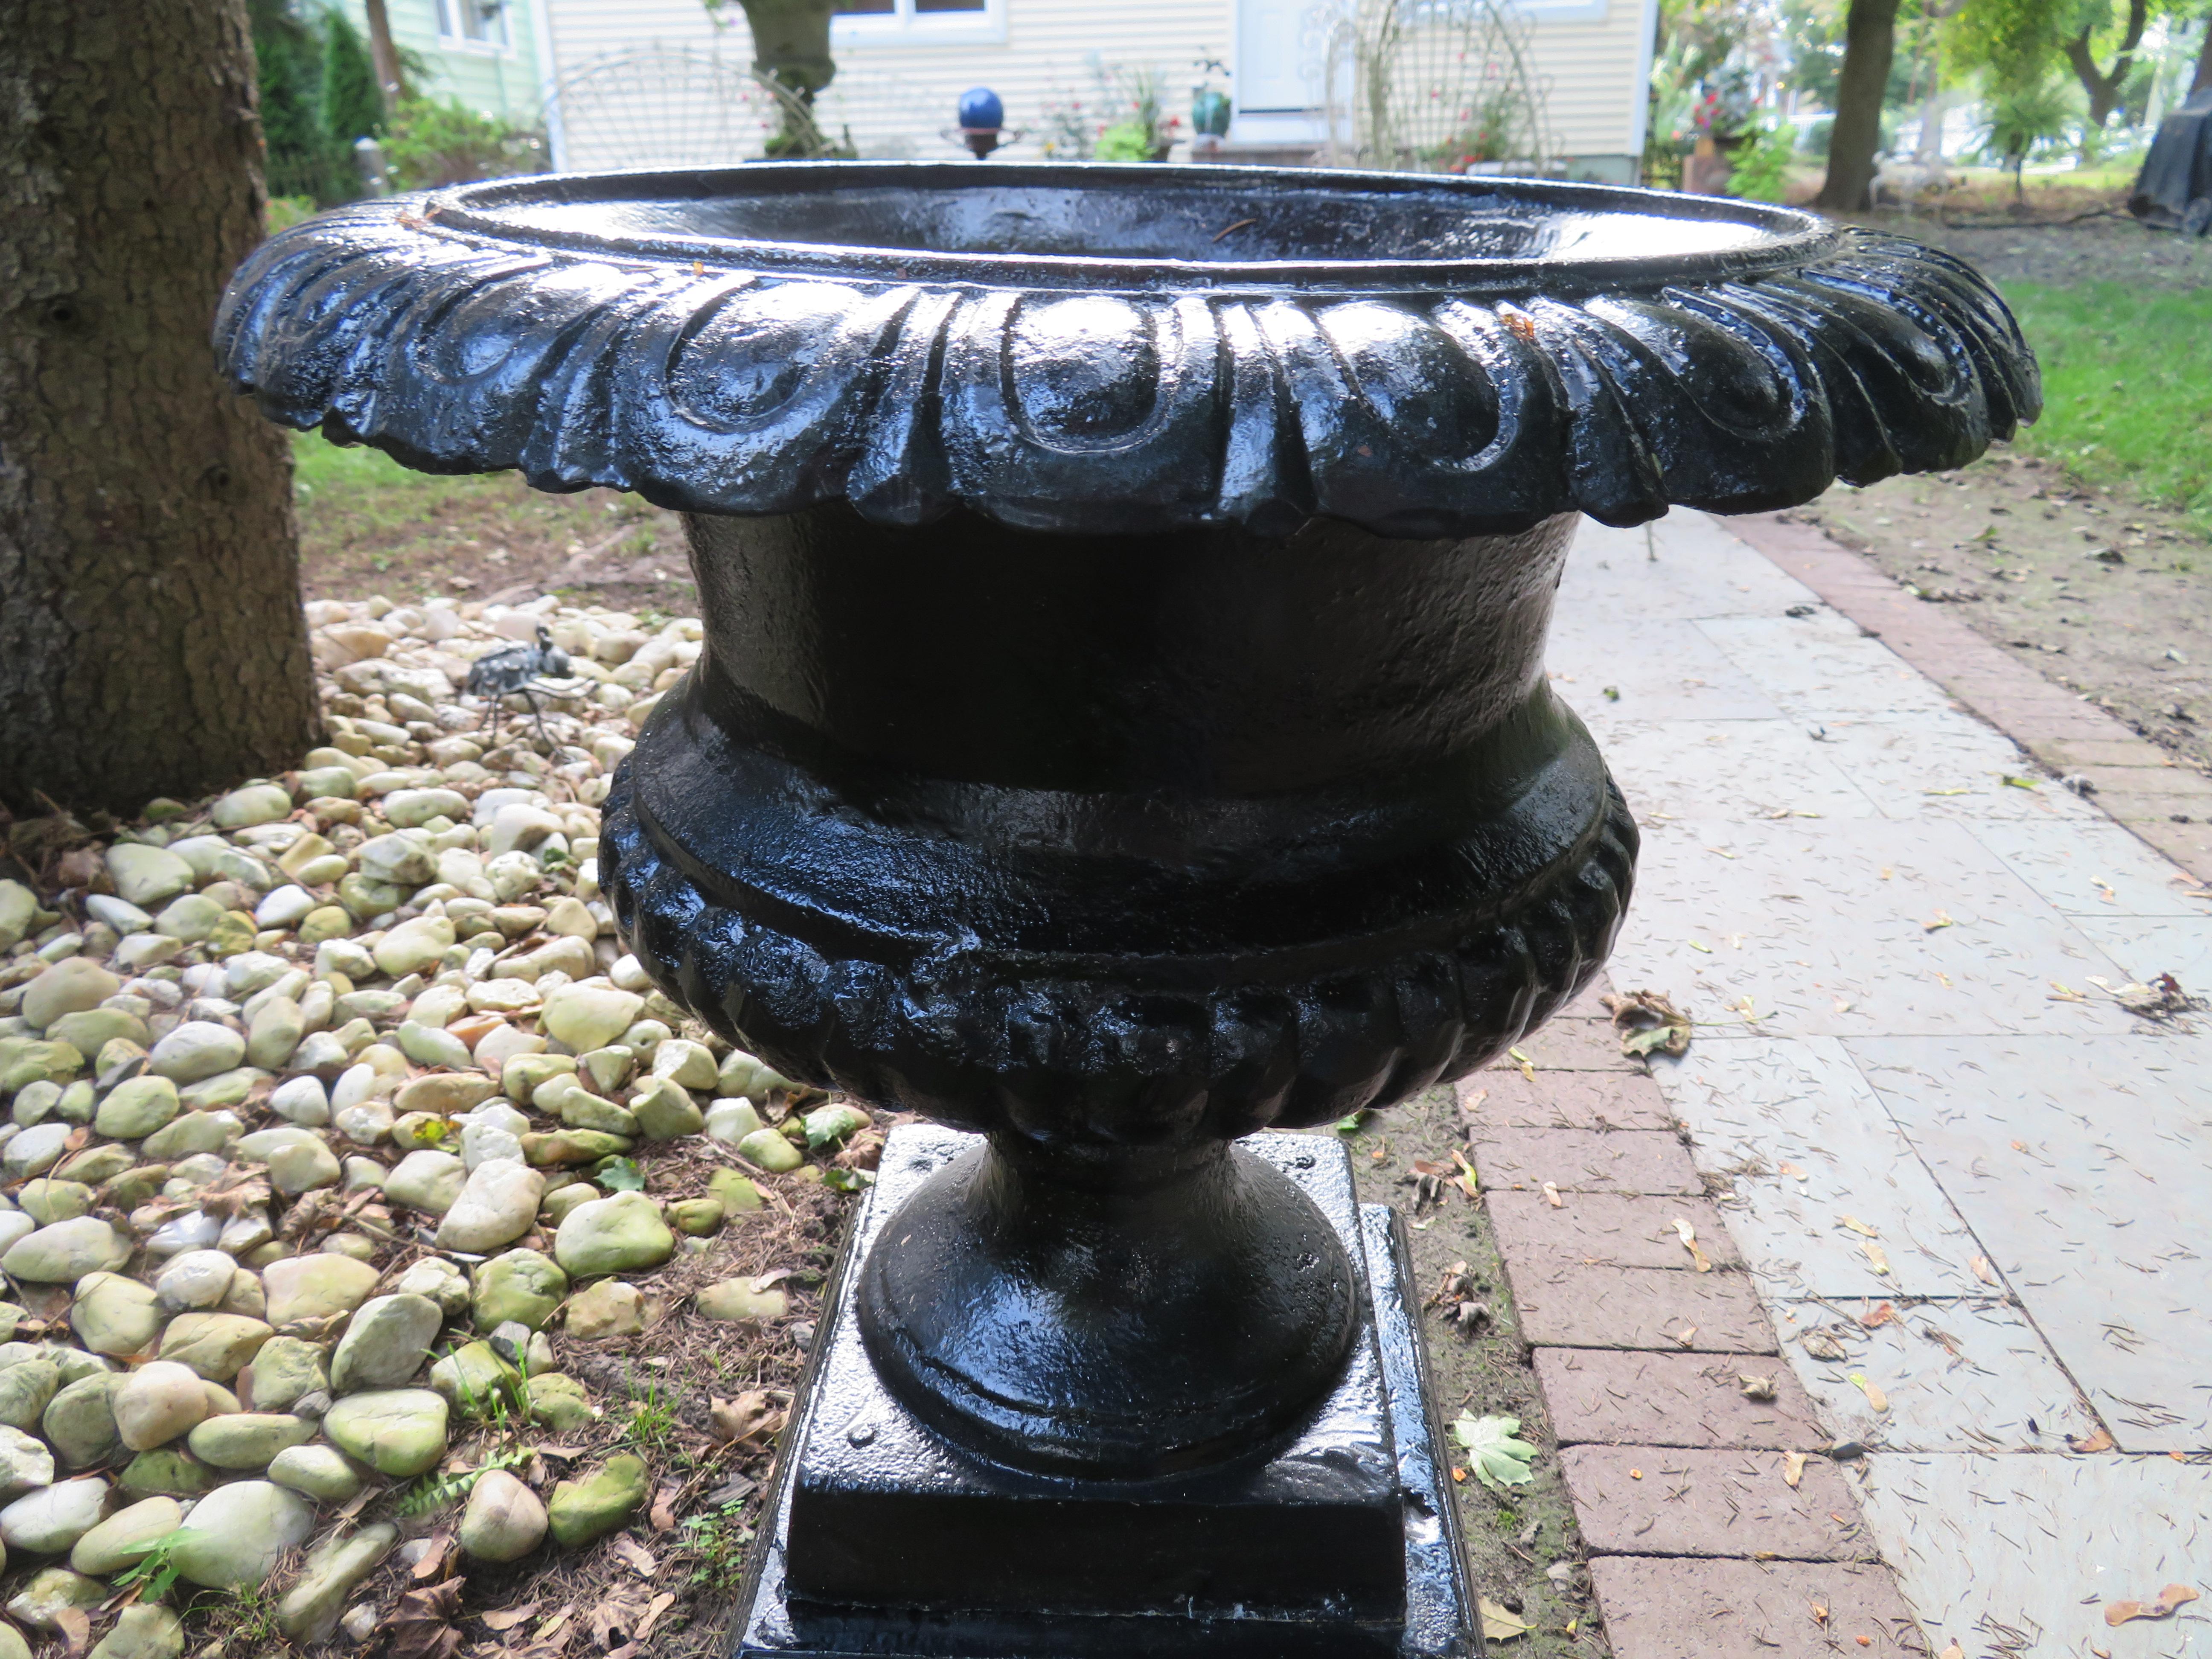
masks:
[(699, 666), (606, 803), (670, 995), (978, 1130), (887, 1385), (1006, 1464), (1290, 1431), (1360, 1281), (1232, 1148), (1455, 1077), (1606, 956), (1635, 825), (1544, 677), (1577, 513), (1955, 467), (2035, 369), (1964, 265), (1745, 201), (1256, 168), (748, 166), (323, 215), (268, 414), (686, 513)]

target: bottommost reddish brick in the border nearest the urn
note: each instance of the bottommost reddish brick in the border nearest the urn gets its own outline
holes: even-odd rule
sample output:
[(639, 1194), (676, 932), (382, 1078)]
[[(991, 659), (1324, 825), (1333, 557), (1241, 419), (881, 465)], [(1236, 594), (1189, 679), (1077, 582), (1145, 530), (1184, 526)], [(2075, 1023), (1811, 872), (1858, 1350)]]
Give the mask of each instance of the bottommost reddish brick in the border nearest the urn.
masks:
[(1590, 1584), (1613, 1659), (1929, 1652), (1887, 1566), (1604, 1555), (1590, 1562)]

